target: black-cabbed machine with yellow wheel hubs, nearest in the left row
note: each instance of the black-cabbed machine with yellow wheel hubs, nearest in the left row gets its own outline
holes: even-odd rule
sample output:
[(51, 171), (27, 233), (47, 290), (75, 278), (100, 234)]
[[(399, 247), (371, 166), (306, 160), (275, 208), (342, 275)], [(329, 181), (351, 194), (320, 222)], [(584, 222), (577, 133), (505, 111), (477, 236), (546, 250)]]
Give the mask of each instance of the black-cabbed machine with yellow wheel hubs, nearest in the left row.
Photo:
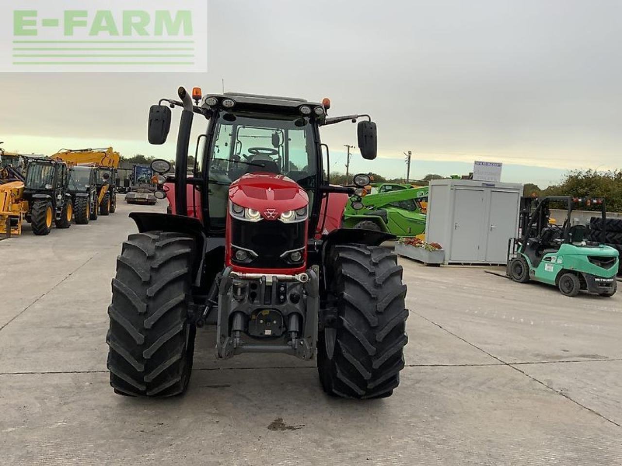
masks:
[(28, 201), (26, 221), (35, 235), (47, 235), (52, 222), (69, 228), (73, 219), (72, 198), (67, 193), (67, 163), (53, 158), (30, 158), (26, 166), (24, 200)]

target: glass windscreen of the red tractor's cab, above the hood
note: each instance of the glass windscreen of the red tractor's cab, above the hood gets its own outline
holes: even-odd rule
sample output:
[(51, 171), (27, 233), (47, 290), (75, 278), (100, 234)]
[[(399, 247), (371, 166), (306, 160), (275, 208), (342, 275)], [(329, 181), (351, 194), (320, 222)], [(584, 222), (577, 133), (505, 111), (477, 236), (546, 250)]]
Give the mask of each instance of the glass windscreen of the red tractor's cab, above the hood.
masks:
[(318, 153), (308, 118), (267, 114), (221, 114), (210, 147), (210, 217), (225, 219), (228, 185), (246, 173), (285, 175), (310, 195), (315, 190)]

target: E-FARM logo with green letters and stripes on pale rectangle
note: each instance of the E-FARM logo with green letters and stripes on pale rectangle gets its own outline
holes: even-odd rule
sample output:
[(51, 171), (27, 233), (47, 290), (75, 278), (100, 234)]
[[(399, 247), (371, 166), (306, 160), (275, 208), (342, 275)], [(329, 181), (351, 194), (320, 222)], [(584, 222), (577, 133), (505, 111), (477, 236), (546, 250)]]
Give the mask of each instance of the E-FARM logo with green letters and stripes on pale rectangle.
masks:
[(207, 71), (207, 0), (3, 1), (0, 18), (0, 71)]

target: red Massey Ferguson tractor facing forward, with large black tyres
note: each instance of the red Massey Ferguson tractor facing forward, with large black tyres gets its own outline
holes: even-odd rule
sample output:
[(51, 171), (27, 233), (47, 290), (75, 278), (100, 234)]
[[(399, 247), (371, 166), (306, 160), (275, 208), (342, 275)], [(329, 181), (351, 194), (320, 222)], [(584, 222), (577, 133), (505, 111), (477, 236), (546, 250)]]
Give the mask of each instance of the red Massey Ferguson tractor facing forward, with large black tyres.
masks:
[[(169, 162), (152, 163), (170, 211), (130, 214), (139, 233), (124, 242), (112, 283), (116, 393), (183, 393), (196, 329), (215, 324), (219, 358), (317, 354), (328, 394), (390, 396), (407, 342), (402, 268), (380, 246), (392, 235), (340, 227), (354, 190), (329, 185), (319, 134), (321, 126), (369, 120), (358, 122), (358, 145), (372, 160), (376, 125), (367, 115), (328, 117), (328, 99), (178, 94), (149, 113), (149, 142), (163, 144), (170, 108), (182, 107), (175, 175), (162, 175)], [(188, 167), (195, 114), (208, 124)], [(357, 186), (368, 183), (355, 176)]]

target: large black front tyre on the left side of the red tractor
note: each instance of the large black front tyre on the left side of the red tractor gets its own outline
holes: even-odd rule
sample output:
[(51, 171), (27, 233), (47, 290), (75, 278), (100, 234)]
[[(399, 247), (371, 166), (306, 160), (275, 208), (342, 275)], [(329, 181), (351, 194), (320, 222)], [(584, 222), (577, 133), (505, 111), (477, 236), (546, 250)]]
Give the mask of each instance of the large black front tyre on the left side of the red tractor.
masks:
[(130, 235), (117, 258), (110, 327), (110, 385), (128, 396), (182, 394), (196, 327), (188, 322), (195, 242), (179, 233)]

